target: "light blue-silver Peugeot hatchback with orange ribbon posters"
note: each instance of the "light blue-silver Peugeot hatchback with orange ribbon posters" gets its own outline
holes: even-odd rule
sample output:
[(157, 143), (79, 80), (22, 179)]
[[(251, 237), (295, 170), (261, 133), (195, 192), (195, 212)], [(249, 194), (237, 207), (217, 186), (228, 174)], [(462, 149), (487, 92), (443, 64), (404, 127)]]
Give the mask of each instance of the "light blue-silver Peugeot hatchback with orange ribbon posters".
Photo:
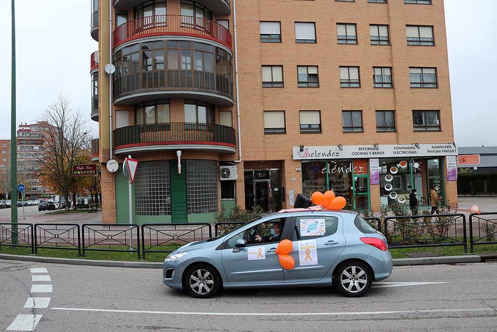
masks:
[[(276, 252), (283, 239), (293, 245), (290, 269)], [(391, 273), (385, 237), (356, 213), (287, 210), (182, 246), (166, 257), (163, 283), (197, 298), (223, 288), (331, 285), (359, 297)]]

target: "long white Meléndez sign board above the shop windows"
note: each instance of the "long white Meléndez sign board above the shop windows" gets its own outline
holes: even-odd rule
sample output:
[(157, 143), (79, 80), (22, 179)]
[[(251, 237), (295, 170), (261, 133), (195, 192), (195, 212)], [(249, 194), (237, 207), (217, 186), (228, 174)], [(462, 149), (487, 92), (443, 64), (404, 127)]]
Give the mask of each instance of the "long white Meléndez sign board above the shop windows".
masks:
[(418, 158), (431, 156), (457, 156), (457, 147), (452, 143), (438, 144), (390, 144), (378, 145), (337, 145), (293, 147), (294, 160), (346, 159), (346, 158)]

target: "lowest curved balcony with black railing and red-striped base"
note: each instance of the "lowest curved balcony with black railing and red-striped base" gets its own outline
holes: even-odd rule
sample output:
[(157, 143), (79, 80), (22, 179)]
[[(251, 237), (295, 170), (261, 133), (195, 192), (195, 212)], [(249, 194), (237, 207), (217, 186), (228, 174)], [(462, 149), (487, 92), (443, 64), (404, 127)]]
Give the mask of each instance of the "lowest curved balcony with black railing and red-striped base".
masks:
[(236, 152), (235, 129), (214, 123), (137, 124), (112, 132), (115, 154), (167, 150)]

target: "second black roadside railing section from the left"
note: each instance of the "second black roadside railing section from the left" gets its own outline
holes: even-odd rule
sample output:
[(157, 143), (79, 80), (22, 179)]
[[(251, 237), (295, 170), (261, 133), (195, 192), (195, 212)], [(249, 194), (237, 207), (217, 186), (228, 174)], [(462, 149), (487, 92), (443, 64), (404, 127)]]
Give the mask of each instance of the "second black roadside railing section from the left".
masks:
[(38, 253), (40, 248), (78, 250), (81, 256), (80, 225), (76, 223), (35, 223), (35, 253)]

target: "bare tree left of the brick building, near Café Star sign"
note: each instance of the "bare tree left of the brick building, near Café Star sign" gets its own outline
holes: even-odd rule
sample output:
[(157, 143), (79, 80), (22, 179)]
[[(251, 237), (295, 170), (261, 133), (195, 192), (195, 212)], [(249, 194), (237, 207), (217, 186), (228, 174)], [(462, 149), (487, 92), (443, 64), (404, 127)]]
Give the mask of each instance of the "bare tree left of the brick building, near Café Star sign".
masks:
[[(73, 165), (88, 145), (86, 121), (82, 112), (73, 110), (71, 100), (62, 94), (42, 112), (40, 121), (46, 138), (43, 153), (35, 154), (39, 163), (38, 173), (44, 185), (61, 192), (68, 202), (71, 186), (75, 182)], [(68, 204), (66, 210), (69, 210)]]

